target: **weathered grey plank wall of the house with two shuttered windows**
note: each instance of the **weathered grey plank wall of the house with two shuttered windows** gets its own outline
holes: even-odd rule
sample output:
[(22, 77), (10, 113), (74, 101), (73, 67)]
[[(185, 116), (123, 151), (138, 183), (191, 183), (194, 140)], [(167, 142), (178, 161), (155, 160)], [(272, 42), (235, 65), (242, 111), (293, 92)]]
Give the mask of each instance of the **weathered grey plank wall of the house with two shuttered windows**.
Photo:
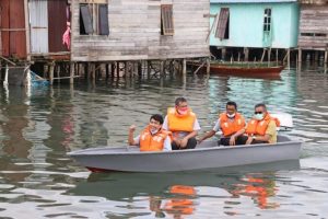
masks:
[[(80, 35), (80, 1), (71, 5), (73, 61), (209, 56), (209, 0), (110, 0), (108, 36)], [(166, 3), (173, 3), (173, 36), (161, 35), (161, 4)]]

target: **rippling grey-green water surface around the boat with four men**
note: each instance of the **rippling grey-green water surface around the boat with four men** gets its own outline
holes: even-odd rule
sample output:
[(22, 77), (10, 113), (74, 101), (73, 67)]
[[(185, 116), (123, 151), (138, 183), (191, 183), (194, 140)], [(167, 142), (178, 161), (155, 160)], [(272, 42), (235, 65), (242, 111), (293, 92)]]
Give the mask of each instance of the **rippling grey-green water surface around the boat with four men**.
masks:
[[(186, 96), (201, 134), (229, 100), (293, 115), (300, 162), (184, 173), (90, 173), (68, 151), (125, 146), (131, 124)], [(327, 218), (328, 74), (115, 79), (96, 85), (0, 88), (0, 217)], [(197, 161), (195, 161), (197, 162)]]

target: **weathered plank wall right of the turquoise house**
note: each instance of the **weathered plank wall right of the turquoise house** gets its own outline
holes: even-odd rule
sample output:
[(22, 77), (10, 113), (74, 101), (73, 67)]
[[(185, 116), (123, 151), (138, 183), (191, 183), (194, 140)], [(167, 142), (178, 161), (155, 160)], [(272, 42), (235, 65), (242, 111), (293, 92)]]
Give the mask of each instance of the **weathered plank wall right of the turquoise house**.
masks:
[(328, 5), (301, 5), (298, 47), (325, 50), (328, 46)]

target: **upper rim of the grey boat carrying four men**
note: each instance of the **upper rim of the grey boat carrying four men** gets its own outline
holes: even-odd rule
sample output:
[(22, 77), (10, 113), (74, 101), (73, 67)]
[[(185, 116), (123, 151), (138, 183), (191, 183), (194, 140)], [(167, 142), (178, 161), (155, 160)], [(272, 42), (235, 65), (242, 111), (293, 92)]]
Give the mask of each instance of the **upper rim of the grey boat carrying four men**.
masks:
[[(216, 142), (216, 141), (215, 141)], [(171, 150), (171, 151), (130, 151), (127, 147), (104, 147), (104, 148), (89, 148), (89, 149), (82, 149), (77, 151), (68, 152), (68, 155), (71, 157), (81, 157), (81, 155), (130, 155), (130, 154), (140, 154), (140, 155), (149, 155), (149, 154), (163, 154), (163, 153), (192, 153), (192, 152), (199, 152), (199, 151), (211, 151), (211, 150), (236, 150), (241, 148), (261, 148), (261, 147), (273, 147), (273, 146), (285, 146), (285, 145), (300, 145), (302, 146), (303, 141), (301, 140), (291, 140), (291, 141), (283, 141), (283, 142), (277, 142), (277, 143), (257, 143), (257, 145), (242, 145), (242, 146), (233, 146), (233, 147), (224, 147), (224, 146), (214, 146), (209, 148), (195, 148), (195, 149), (187, 149), (187, 150)], [(138, 147), (133, 147), (136, 149)], [(110, 153), (101, 153), (106, 149), (126, 149), (126, 151), (119, 151), (119, 152), (110, 152)], [(132, 147), (131, 147), (132, 149)], [(95, 151), (95, 153), (87, 153)], [(98, 152), (99, 151), (99, 152)], [(85, 153), (86, 152), (86, 153)]]

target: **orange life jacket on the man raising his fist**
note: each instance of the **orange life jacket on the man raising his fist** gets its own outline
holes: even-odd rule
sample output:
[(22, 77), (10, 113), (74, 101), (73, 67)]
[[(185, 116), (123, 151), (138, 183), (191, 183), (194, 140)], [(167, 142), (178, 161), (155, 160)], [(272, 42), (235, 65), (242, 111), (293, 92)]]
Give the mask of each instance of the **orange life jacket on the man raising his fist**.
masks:
[(147, 126), (140, 134), (140, 151), (162, 151), (167, 136), (171, 136), (171, 132), (163, 129), (152, 135)]

